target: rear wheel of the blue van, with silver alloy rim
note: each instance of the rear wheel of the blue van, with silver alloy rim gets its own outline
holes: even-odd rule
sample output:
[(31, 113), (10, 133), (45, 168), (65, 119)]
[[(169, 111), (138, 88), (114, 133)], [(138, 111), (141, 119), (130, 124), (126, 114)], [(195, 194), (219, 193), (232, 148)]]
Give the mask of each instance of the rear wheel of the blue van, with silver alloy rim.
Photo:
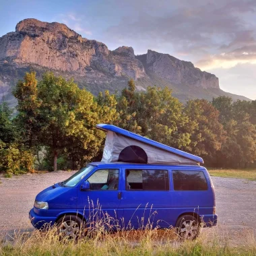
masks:
[(183, 215), (176, 224), (179, 236), (185, 240), (193, 240), (200, 234), (200, 223), (194, 216)]

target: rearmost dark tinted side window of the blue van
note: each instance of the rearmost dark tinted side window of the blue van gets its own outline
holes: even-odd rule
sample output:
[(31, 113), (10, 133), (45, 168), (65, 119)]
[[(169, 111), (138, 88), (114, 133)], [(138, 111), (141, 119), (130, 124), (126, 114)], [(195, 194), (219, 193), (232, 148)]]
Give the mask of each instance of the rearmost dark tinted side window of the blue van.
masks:
[(173, 170), (172, 178), (174, 190), (207, 190), (205, 175), (201, 170)]

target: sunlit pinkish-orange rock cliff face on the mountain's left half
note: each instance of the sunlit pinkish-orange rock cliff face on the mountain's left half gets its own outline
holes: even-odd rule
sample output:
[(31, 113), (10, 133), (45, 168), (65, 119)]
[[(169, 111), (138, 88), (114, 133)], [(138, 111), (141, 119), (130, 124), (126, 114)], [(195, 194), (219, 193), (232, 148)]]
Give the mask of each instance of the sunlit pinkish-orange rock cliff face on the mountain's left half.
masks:
[(126, 56), (127, 63), (113, 53), (102, 42), (82, 38), (64, 24), (34, 19), (19, 22), (15, 32), (0, 38), (0, 59), (11, 57), (20, 65), (35, 64), (79, 75), (105, 69), (110, 75), (126, 74), (133, 79), (143, 76), (143, 66), (134, 53)]

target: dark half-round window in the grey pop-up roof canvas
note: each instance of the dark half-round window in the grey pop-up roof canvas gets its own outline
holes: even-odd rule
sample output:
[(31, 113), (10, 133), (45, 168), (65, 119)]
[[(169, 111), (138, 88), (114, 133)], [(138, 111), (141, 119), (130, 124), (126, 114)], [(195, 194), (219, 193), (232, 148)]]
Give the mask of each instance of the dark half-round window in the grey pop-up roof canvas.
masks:
[(147, 164), (148, 156), (146, 152), (139, 146), (127, 146), (119, 154), (119, 162), (137, 162), (139, 164)]

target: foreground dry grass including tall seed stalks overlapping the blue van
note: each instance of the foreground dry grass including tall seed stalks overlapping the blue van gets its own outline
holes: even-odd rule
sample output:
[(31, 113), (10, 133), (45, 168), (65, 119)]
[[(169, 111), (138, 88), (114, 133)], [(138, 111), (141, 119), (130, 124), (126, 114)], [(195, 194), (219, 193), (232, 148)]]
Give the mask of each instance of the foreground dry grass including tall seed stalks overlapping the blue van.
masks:
[(0, 240), (0, 255), (256, 255), (253, 231), (244, 231), (242, 244), (234, 243), (233, 234), (218, 226), (205, 228), (196, 240), (181, 241), (176, 230), (158, 229), (152, 207), (150, 219), (138, 220), (139, 230), (133, 230), (124, 220), (110, 218), (98, 201), (94, 205), (88, 198), (88, 203), (90, 214), (81, 238), (63, 238), (57, 226), (44, 232), (15, 232)]

